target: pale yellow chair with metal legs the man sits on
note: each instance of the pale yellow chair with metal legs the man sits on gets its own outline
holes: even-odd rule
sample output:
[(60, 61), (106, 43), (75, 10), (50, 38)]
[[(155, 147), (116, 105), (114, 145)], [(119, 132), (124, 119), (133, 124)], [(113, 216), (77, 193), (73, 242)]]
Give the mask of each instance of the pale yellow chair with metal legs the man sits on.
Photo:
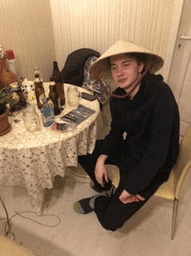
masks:
[[(164, 182), (154, 196), (162, 199), (169, 199), (174, 201), (173, 219), (172, 219), (172, 231), (171, 239), (175, 237), (175, 223), (179, 203), (179, 193), (181, 191), (181, 185), (185, 179), (188, 170), (191, 168), (191, 124), (181, 140), (180, 152), (177, 158), (176, 164), (173, 170), (170, 172), (169, 178)], [(113, 185), (115, 188), (119, 185), (120, 173), (115, 172), (113, 179)]]

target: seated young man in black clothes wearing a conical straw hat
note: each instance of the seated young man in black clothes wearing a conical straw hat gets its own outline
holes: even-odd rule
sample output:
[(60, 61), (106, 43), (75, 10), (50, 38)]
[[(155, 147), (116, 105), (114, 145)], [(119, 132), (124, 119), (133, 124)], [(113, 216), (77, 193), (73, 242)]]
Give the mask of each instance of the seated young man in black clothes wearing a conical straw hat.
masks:
[[(79, 163), (99, 192), (75, 204), (78, 213), (95, 214), (115, 231), (168, 179), (179, 152), (180, 118), (175, 97), (161, 75), (158, 55), (120, 40), (91, 65), (89, 73), (119, 86), (110, 98), (111, 129)], [(123, 133), (127, 136), (123, 139)], [(120, 183), (113, 193), (105, 165), (117, 165)]]

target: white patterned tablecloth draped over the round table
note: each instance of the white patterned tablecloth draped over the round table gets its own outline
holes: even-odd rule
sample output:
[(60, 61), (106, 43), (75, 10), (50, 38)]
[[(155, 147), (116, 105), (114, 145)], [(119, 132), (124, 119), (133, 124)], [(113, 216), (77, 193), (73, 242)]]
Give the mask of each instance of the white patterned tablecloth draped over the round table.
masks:
[[(69, 84), (64, 84), (64, 90)], [(49, 83), (44, 83), (48, 97)], [(89, 92), (78, 87), (79, 91)], [(66, 94), (66, 93), (65, 93)], [(97, 100), (80, 99), (80, 103), (95, 113), (76, 126), (74, 131), (54, 131), (42, 126), (40, 131), (26, 131), (22, 111), (10, 118), (11, 130), (0, 137), (0, 185), (23, 185), (30, 195), (32, 205), (42, 200), (43, 189), (52, 188), (56, 175), (64, 176), (66, 166), (77, 166), (77, 156), (91, 153), (99, 125), (102, 126), (100, 105)], [(60, 117), (71, 111), (65, 105)], [(38, 110), (37, 110), (38, 111)], [(38, 111), (41, 117), (40, 111)], [(14, 119), (20, 122), (15, 123)]]

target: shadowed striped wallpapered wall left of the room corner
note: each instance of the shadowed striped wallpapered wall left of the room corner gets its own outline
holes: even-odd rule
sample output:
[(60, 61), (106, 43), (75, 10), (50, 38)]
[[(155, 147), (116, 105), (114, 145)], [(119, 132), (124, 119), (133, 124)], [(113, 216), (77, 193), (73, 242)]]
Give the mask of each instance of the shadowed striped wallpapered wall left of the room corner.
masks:
[(0, 0), (3, 51), (13, 50), (20, 77), (33, 79), (38, 66), (45, 80), (56, 59), (49, 0)]

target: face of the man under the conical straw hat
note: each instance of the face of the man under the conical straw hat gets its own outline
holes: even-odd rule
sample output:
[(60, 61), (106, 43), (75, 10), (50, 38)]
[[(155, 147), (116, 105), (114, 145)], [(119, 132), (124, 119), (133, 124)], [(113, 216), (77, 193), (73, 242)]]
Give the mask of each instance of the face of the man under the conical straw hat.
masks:
[(141, 76), (144, 64), (137, 64), (135, 57), (128, 54), (119, 54), (110, 57), (111, 73), (115, 83), (126, 92), (130, 91), (133, 85)]

